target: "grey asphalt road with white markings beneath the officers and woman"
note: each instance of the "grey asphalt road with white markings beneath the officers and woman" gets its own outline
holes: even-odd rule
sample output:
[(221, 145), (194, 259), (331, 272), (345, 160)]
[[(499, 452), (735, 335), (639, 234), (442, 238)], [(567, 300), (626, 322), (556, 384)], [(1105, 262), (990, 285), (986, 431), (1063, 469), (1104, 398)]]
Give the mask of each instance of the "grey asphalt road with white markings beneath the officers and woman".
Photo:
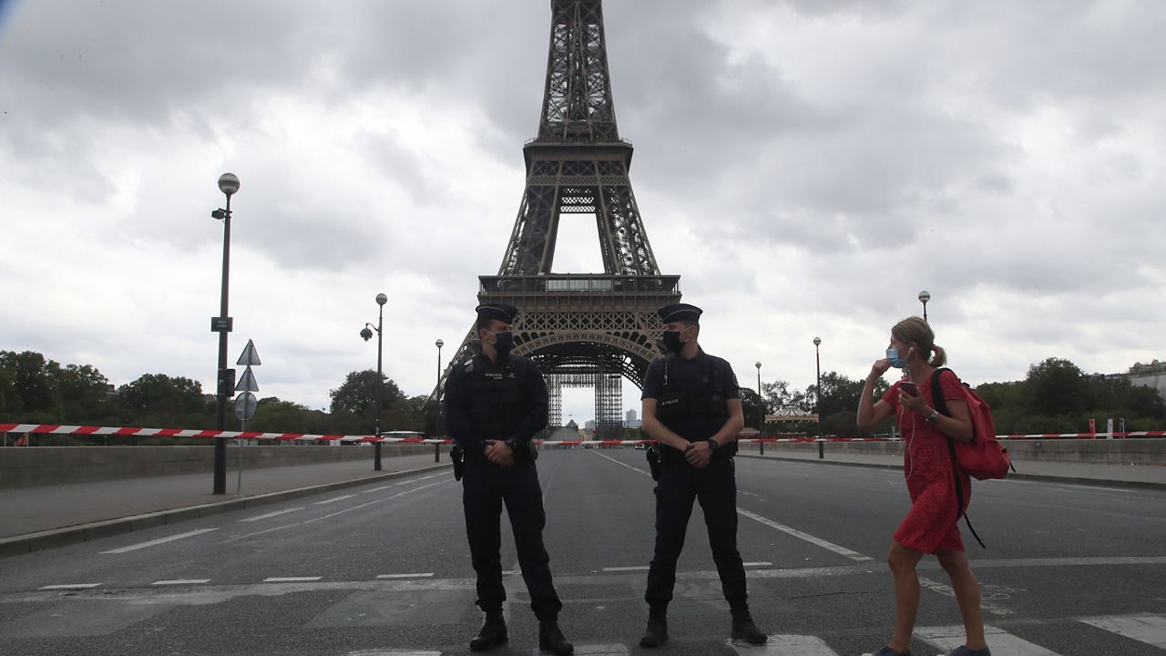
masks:
[[(642, 452), (548, 451), (539, 470), (576, 652), (649, 652), (637, 647), (654, 508)], [(697, 507), (673, 640), (656, 652), (857, 656), (884, 644), (901, 473), (738, 459), (737, 479), (751, 605), (771, 643), (728, 641)], [(971, 518), (988, 543), (964, 531), (998, 656), (1166, 650), (1166, 491), (992, 481), (976, 484)], [(506, 529), (503, 561), (517, 570)], [(960, 635), (955, 600), (934, 559), (920, 575), (914, 652), (946, 654), (944, 636)], [(506, 580), (511, 644), (492, 654), (538, 652), (521, 577)], [(480, 623), (473, 599), (461, 486), (445, 470), (0, 559), (0, 652), (464, 654)]]

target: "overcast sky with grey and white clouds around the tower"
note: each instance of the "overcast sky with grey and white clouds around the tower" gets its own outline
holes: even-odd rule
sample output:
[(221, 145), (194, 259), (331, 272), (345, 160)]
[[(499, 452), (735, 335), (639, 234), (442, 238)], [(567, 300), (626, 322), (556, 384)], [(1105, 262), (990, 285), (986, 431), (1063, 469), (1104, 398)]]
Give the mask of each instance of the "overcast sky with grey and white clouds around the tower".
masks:
[[(742, 382), (862, 377), (920, 314), (972, 384), (1166, 360), (1166, 4), (607, 0), (632, 184)], [(0, 0), (0, 349), (322, 409), (465, 336), (524, 189), (547, 0)], [(570, 218), (570, 217), (568, 217)], [(577, 219), (577, 221), (575, 221)], [(557, 272), (602, 271), (593, 219)], [(625, 407), (638, 390), (625, 382)], [(635, 405), (632, 405), (635, 404)], [(592, 416), (570, 391), (564, 414)]]

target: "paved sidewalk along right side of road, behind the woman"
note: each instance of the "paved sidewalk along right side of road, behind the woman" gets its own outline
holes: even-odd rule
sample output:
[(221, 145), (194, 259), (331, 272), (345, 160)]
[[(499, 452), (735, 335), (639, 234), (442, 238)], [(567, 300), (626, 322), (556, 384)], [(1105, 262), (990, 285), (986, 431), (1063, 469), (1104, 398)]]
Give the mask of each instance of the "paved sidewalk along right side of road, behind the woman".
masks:
[[(743, 451), (738, 458), (772, 458), (777, 460), (798, 460), (819, 462), (822, 465), (849, 465), (856, 467), (883, 467), (901, 469), (901, 454), (865, 454), (865, 453), (830, 453), (819, 460), (816, 451), (782, 451), (766, 445), (765, 454), (754, 449)], [(1065, 483), (1084, 483), (1118, 488), (1166, 489), (1166, 467), (1156, 465), (1107, 465), (1088, 462), (1048, 462), (1039, 460), (1013, 459), (1016, 472), (1009, 472), (1009, 479), (1026, 479), (1035, 481), (1059, 481)]]

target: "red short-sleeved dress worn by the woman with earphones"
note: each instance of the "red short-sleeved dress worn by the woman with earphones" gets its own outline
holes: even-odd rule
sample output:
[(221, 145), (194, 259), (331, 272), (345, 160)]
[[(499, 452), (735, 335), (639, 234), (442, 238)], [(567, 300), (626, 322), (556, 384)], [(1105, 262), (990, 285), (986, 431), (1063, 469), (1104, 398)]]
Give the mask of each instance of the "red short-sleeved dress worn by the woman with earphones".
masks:
[[(916, 384), (927, 406), (935, 407), (932, 402), (932, 379), (928, 377)], [(962, 400), (962, 384), (954, 374), (940, 376), (940, 390), (944, 399)], [(957, 508), (960, 502), (955, 491), (955, 477), (951, 475), (949, 438), (934, 424), (925, 421), (923, 416), (899, 405), (899, 383), (883, 395), (883, 400), (894, 410), (899, 431), (902, 432), (902, 473), (907, 480), (907, 491), (911, 493), (911, 510), (894, 532), (894, 540), (923, 553), (963, 551), (957, 522), (971, 500), (971, 480), (967, 474), (960, 474), (963, 508)]]

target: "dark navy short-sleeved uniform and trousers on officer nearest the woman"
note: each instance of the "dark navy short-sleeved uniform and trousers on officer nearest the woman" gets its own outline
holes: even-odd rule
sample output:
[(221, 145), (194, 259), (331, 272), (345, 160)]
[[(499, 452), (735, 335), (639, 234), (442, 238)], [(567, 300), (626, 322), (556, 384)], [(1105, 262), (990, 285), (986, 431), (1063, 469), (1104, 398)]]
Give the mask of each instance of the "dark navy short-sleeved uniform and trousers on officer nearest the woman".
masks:
[[(729, 419), (728, 400), (740, 398), (737, 377), (724, 360), (700, 351), (693, 360), (677, 355), (656, 358), (644, 377), (642, 398), (656, 400), (656, 419), (690, 442), (707, 440)], [(732, 455), (736, 445), (714, 452), (708, 467), (697, 469), (681, 452), (660, 445), (660, 481), (656, 496), (655, 554), (648, 568), (648, 607), (662, 612), (672, 600), (676, 560), (693, 501), (701, 502), (721, 588), (733, 610), (746, 608), (745, 567), (737, 551), (737, 479)]]

